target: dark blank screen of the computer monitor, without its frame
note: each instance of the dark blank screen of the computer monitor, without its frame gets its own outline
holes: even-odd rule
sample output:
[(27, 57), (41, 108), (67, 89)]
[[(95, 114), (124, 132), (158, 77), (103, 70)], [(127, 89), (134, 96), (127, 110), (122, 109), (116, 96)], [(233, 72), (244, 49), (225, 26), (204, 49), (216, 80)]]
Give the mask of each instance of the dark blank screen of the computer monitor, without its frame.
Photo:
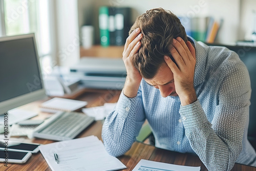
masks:
[(0, 42), (0, 102), (42, 89), (32, 38)]

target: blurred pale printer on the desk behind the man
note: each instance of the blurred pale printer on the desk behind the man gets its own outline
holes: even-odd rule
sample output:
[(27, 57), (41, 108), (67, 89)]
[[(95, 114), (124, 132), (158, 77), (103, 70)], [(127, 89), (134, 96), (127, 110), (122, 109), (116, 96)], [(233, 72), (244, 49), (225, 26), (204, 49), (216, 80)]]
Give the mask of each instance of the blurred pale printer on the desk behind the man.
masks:
[(82, 57), (70, 71), (80, 75), (84, 88), (122, 90), (126, 79), (121, 58)]

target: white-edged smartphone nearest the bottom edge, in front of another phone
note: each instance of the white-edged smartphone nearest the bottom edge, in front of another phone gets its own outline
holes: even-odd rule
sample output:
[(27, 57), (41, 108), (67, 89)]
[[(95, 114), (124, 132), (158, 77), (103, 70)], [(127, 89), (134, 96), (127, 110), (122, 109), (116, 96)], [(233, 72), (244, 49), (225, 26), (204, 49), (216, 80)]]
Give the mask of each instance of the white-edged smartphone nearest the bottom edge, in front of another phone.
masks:
[(25, 163), (32, 153), (27, 152), (10, 152), (0, 149), (0, 162), (4, 163)]

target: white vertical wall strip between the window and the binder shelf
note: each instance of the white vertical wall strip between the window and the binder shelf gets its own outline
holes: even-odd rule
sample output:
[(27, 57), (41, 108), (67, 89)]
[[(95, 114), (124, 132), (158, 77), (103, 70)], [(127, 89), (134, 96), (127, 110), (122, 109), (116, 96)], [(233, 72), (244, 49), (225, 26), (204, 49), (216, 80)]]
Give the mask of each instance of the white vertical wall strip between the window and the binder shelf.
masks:
[(80, 58), (77, 0), (55, 0), (55, 14), (58, 65), (72, 66)]

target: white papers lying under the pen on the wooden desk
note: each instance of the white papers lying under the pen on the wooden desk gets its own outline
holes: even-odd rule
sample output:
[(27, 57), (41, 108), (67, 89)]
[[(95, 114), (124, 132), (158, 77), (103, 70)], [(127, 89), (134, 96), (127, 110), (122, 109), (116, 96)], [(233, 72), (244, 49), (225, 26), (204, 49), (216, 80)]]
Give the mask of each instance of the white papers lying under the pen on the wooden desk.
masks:
[[(103, 143), (95, 136), (39, 146), (42, 156), (52, 170), (103, 171), (126, 168), (117, 158), (105, 151)], [(54, 153), (58, 156), (55, 161)]]

